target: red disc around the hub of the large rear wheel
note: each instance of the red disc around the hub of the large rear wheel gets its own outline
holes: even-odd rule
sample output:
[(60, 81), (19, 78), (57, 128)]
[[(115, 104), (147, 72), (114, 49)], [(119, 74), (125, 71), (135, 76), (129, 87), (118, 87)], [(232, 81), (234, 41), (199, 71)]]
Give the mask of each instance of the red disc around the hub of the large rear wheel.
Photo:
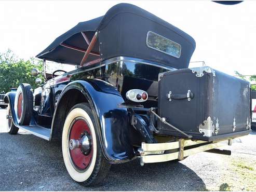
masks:
[(91, 158), (92, 158), (92, 153), (93, 153), (93, 143), (92, 143), (91, 131), (90, 131), (90, 128), (89, 128), (86, 120), (78, 119), (71, 126), (69, 141), (72, 139), (80, 140), (80, 139), (82, 139), (82, 136), (84, 134), (87, 134), (90, 137), (90, 141), (91, 141), (90, 142), (91, 143), (90, 152), (87, 155), (85, 155), (82, 152), (82, 148), (80, 146), (79, 146), (79, 148), (75, 148), (72, 150), (69, 149), (73, 164), (79, 170), (84, 170), (89, 166), (89, 164), (91, 162)]

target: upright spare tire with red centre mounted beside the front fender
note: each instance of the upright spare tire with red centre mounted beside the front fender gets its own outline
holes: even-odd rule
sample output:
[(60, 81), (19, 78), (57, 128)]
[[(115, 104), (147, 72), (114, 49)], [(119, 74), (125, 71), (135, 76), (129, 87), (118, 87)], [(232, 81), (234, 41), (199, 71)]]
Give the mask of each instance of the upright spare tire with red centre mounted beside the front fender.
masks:
[(20, 84), (18, 87), (14, 109), (18, 124), (28, 126), (33, 112), (33, 93), (30, 84)]

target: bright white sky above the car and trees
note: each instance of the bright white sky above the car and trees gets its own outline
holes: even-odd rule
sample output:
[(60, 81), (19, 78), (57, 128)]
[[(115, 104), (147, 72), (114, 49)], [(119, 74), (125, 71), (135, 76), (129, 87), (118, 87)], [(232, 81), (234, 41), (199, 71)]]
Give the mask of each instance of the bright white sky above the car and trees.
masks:
[[(78, 22), (105, 14), (118, 3), (137, 5), (190, 34), (191, 61), (234, 75), (256, 75), (256, 1), (1, 1), (0, 52), (29, 59)], [(201, 65), (193, 63), (192, 66)]]

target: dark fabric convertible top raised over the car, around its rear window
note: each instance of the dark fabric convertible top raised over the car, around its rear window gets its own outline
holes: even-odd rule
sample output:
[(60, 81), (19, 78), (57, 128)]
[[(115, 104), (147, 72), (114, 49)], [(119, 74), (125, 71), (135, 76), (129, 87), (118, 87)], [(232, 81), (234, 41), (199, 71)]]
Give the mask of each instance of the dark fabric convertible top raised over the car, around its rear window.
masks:
[[(187, 68), (195, 50), (195, 40), (185, 32), (131, 4), (117, 4), (105, 16), (80, 22), (74, 28), (59, 36), (36, 57), (50, 61), (80, 64), (88, 48), (81, 32), (91, 39), (98, 31), (98, 40), (86, 62), (118, 56), (139, 58), (158, 62), (166, 66)], [(147, 32), (152, 31), (181, 45), (181, 57), (174, 58), (146, 46)], [(100, 42), (100, 43), (99, 43)], [(72, 48), (76, 47), (82, 51)], [(84, 50), (84, 51), (83, 51)]]

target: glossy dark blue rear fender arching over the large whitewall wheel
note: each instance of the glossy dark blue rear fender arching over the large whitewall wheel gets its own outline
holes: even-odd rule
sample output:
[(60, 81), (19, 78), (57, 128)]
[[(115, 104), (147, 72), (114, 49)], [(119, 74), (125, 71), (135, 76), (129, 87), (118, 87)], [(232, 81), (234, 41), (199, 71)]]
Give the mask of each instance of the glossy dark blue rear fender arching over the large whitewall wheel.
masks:
[(118, 107), (124, 100), (114, 86), (103, 80), (76, 80), (69, 83), (59, 97), (52, 126), (61, 99), (71, 89), (79, 90), (91, 106), (105, 158), (112, 163), (119, 163), (136, 157), (130, 141), (127, 109)]

